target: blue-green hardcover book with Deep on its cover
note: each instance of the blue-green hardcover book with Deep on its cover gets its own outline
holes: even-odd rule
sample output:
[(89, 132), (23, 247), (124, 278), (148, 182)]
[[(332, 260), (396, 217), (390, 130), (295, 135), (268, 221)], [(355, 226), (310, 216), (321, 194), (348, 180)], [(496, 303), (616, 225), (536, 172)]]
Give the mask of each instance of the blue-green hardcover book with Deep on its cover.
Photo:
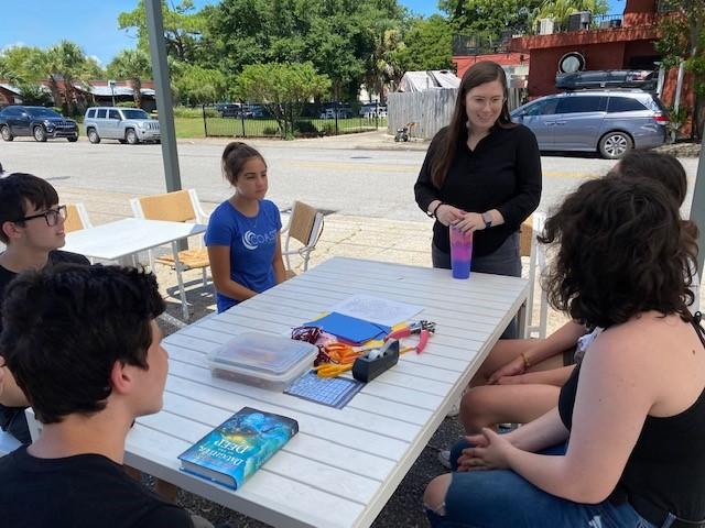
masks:
[(181, 469), (237, 490), (297, 432), (293, 418), (243, 407), (180, 454)]

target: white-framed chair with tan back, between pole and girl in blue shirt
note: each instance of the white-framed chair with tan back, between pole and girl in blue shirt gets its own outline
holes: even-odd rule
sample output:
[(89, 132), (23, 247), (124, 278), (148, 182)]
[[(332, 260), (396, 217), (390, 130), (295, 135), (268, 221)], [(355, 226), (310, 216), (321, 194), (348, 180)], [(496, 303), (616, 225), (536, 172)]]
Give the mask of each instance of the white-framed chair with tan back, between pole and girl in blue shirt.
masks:
[[(196, 223), (207, 223), (208, 221), (208, 217), (200, 207), (195, 189), (132, 198), (130, 205), (132, 206), (132, 212), (135, 218)], [(210, 262), (208, 261), (208, 252), (203, 245), (203, 239), (200, 239), (199, 246), (193, 250), (177, 252), (174, 248), (175, 244), (172, 244), (172, 255), (159, 257), (155, 257), (154, 253), (150, 251), (150, 267), (154, 268), (154, 263), (159, 263), (170, 266), (176, 272), (183, 315), (184, 319), (187, 319), (188, 307), (186, 305), (182, 273), (187, 270), (200, 268), (203, 273), (203, 285), (207, 286), (206, 268), (210, 265)]]

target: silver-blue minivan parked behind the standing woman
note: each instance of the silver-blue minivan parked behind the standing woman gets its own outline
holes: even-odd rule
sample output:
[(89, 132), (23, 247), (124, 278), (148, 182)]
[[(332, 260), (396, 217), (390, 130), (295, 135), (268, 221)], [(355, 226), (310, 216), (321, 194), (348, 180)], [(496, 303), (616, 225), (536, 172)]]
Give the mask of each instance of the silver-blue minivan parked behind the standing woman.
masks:
[(662, 145), (669, 123), (659, 98), (639, 89), (545, 96), (514, 109), (511, 117), (533, 131), (542, 151), (597, 151), (608, 160)]

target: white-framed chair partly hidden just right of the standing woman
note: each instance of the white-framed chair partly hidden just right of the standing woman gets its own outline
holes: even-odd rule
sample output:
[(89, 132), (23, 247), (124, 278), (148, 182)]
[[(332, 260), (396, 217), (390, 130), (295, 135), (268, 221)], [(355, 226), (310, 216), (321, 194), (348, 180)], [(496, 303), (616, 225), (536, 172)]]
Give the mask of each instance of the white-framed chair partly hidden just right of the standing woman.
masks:
[[(549, 297), (541, 287), (538, 278), (541, 278), (545, 270), (545, 251), (536, 241), (536, 235), (543, 231), (545, 215), (534, 212), (521, 224), (521, 256), (529, 257), (529, 297), (527, 298), (527, 320), (524, 324), (524, 337), (546, 337), (546, 322), (549, 317)], [(539, 286), (539, 318), (534, 322), (533, 304), (534, 290)]]

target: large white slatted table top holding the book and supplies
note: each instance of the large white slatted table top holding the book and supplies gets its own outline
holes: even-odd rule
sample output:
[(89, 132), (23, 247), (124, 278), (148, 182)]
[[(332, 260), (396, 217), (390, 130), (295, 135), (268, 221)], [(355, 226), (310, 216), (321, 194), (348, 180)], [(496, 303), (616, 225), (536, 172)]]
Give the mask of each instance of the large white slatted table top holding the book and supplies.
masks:
[[(527, 293), (521, 278), (329, 260), (166, 338), (164, 409), (138, 419), (126, 463), (275, 526), (369, 526)], [(210, 375), (205, 354), (234, 334), (285, 334), (352, 294), (422, 305), (417, 318), (437, 327), (344, 409)], [(243, 406), (295, 418), (300, 432), (237, 492), (180, 472), (177, 455)]]

